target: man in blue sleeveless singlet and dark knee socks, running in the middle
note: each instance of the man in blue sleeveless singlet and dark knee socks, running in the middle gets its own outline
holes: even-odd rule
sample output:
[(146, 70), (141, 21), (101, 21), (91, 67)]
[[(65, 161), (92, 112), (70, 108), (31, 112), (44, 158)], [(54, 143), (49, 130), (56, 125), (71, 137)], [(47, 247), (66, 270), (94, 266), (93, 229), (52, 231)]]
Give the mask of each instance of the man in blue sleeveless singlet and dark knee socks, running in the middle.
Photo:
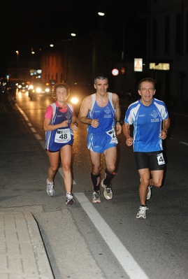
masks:
[(88, 125), (87, 148), (92, 161), (91, 177), (94, 185), (92, 202), (101, 203), (101, 154), (106, 159), (105, 178), (101, 181), (101, 186), (103, 187), (105, 198), (110, 200), (113, 198), (111, 180), (115, 176), (114, 171), (117, 159), (116, 134), (121, 133), (122, 125), (120, 124), (119, 97), (115, 93), (107, 92), (108, 78), (103, 75), (97, 75), (94, 78), (94, 88), (96, 93), (87, 96), (82, 101), (78, 118), (80, 122)]

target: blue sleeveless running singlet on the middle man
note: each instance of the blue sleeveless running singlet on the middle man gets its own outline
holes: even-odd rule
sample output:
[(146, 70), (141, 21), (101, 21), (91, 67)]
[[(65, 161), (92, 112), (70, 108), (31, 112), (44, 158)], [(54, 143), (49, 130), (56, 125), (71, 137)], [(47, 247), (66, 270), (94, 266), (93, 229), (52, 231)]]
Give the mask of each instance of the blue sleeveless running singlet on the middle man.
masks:
[(113, 94), (108, 92), (108, 103), (106, 106), (98, 106), (96, 103), (96, 94), (92, 94), (92, 108), (89, 110), (87, 117), (89, 119), (98, 119), (99, 127), (94, 128), (88, 125), (87, 131), (92, 134), (106, 133), (115, 126), (115, 108), (113, 107), (112, 96)]

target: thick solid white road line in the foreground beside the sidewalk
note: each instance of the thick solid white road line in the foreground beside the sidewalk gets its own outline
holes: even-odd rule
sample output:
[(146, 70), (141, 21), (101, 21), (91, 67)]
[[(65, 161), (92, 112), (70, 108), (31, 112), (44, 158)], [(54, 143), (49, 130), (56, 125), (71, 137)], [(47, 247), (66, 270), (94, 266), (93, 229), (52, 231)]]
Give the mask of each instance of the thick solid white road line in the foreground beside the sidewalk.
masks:
[(149, 279), (143, 269), (136, 263), (129, 251), (126, 250), (119, 238), (114, 234), (112, 229), (103, 220), (98, 211), (94, 208), (91, 201), (83, 193), (74, 193), (74, 196), (80, 202), (80, 205), (87, 213), (88, 217), (99, 231), (104, 241), (113, 252), (122, 268), (130, 279)]

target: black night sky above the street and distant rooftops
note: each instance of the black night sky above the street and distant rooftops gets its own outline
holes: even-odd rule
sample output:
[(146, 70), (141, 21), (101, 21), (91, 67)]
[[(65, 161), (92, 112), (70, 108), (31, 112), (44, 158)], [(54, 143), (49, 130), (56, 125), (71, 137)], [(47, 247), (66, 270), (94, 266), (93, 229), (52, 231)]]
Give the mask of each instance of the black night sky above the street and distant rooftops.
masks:
[[(31, 57), (31, 48), (37, 52), (50, 42), (71, 38), (71, 32), (79, 37), (88, 36), (99, 27), (102, 20), (108, 36), (121, 41), (122, 22), (125, 26), (125, 44), (136, 50), (144, 49), (146, 36), (140, 15), (147, 0), (18, 0), (1, 1), (0, 76), (6, 73), (8, 61)], [(110, 16), (99, 17), (98, 11)], [(119, 20), (118, 19), (121, 19)], [(146, 43), (145, 43), (146, 45)], [(118, 43), (117, 43), (118, 48)]]

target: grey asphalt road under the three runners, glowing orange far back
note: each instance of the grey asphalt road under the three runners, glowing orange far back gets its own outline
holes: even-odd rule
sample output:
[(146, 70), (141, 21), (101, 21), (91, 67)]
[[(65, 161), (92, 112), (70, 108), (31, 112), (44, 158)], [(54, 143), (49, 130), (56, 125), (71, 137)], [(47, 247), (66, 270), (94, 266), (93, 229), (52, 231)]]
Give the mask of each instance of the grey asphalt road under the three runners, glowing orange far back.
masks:
[[(118, 136), (113, 200), (101, 195), (100, 204), (91, 203), (91, 165), (84, 124), (79, 125), (73, 145), (75, 205), (65, 206), (61, 171), (55, 178), (55, 197), (46, 194), (48, 157), (43, 115), (50, 102), (50, 98), (39, 97), (30, 101), (26, 93), (17, 96), (17, 135), (21, 133), (22, 138), (18, 141), (15, 136), (16, 148), (10, 148), (14, 164), (9, 159), (4, 166), (9, 180), (2, 178), (0, 210), (31, 210), (56, 279), (187, 278), (187, 116), (171, 112), (172, 125), (164, 143), (164, 185), (152, 190), (147, 219), (137, 220), (139, 178), (133, 150), (125, 145), (123, 135)], [(122, 110), (124, 113), (125, 107)], [(102, 165), (104, 171), (103, 158)]]

